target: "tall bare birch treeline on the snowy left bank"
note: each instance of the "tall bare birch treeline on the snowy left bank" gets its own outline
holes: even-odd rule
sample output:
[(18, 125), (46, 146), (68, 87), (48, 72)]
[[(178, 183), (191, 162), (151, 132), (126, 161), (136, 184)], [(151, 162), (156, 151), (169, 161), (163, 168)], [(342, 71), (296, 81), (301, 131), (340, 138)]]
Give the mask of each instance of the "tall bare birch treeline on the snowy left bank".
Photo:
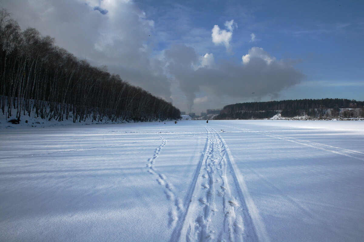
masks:
[[(42, 37), (34, 28), (21, 31), (0, 11), (0, 106), (8, 118), (38, 117), (74, 122), (178, 119), (171, 103), (122, 81), (104, 67), (93, 67)], [(12, 109), (16, 113), (12, 113)]]

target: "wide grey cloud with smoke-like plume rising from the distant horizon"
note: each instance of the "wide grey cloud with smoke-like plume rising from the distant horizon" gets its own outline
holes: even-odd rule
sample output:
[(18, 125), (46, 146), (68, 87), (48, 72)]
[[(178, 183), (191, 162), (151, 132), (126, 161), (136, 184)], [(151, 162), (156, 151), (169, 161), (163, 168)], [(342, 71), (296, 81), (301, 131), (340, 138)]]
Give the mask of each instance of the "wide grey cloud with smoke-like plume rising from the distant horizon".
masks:
[[(277, 61), (258, 47), (249, 50), (242, 64), (226, 61), (219, 65), (214, 64), (212, 68), (201, 65), (212, 54), (198, 57), (193, 48), (183, 44), (173, 45), (166, 50), (165, 57), (169, 62), (169, 73), (186, 96), (188, 111), (192, 111), (193, 107), (199, 110), (206, 106), (202, 105), (202, 100), (221, 102), (223, 98), (239, 101), (274, 96), (279, 91), (296, 85), (303, 78), (303, 74), (295, 70), (291, 62)], [(199, 68), (194, 68), (198, 61)], [(207, 98), (197, 98), (197, 94), (201, 93), (205, 93)]]

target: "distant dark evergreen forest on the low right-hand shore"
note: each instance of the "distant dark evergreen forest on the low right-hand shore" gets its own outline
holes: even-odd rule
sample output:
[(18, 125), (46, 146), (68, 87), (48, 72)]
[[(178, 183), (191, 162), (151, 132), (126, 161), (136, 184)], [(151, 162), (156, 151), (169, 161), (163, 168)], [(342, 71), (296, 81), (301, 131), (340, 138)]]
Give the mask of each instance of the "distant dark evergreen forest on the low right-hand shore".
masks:
[[(355, 112), (348, 110), (341, 112), (345, 108), (361, 108), (360, 114), (363, 116), (363, 105), (362, 101), (339, 98), (236, 103), (225, 106), (214, 119), (264, 119), (272, 118), (278, 113), (287, 118), (304, 115), (311, 117), (355, 115)], [(327, 112), (328, 109), (330, 112)]]

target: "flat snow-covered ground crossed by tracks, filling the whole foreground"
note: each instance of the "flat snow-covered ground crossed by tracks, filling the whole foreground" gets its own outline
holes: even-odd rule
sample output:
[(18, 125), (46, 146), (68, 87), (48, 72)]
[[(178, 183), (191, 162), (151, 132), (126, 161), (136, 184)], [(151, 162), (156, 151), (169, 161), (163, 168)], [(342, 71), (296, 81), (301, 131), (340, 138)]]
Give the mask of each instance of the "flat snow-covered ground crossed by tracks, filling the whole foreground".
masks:
[(0, 129), (0, 241), (364, 241), (364, 122)]

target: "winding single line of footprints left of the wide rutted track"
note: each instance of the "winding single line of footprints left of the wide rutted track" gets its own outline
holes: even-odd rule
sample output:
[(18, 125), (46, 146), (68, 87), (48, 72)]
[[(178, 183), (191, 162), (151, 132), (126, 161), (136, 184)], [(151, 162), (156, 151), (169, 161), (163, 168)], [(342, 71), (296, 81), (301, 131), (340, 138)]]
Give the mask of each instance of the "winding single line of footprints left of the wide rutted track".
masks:
[(171, 210), (169, 211), (169, 225), (174, 227), (178, 221), (178, 213), (182, 210), (182, 202), (175, 195), (173, 185), (168, 181), (167, 177), (163, 175), (163, 173), (158, 172), (154, 167), (155, 160), (158, 158), (161, 149), (167, 143), (167, 140), (163, 139), (158, 132), (157, 135), (159, 136), (159, 139), (162, 140), (162, 144), (155, 149), (154, 155), (148, 159), (146, 167), (148, 167), (148, 172), (156, 177), (158, 184), (165, 188), (164, 193), (166, 194), (167, 199), (172, 203)]

